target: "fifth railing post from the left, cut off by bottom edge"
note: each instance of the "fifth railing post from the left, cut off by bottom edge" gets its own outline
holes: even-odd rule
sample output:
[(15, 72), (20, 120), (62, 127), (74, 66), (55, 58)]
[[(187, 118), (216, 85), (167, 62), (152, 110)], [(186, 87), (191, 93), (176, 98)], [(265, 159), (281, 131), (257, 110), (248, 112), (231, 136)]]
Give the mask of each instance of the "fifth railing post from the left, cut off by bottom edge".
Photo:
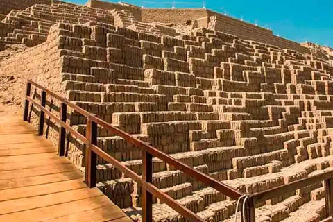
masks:
[[(142, 151), (142, 180), (153, 182), (153, 155)], [(153, 195), (142, 186), (142, 221), (153, 221)]]

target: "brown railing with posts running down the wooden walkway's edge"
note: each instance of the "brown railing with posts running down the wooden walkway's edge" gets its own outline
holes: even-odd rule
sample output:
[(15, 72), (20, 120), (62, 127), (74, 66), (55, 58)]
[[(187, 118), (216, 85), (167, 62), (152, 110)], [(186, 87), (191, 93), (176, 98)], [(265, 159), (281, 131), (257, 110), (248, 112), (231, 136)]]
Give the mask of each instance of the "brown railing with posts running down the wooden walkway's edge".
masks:
[[(34, 85), (38, 89), (42, 90), (42, 97), (41, 97), (41, 103), (37, 103), (37, 101), (34, 101), (33, 98), (31, 98), (31, 85)], [(55, 99), (58, 99), (58, 101), (61, 102), (61, 109), (60, 109), (60, 119), (56, 117), (55, 114), (53, 114), (51, 111), (46, 110), (46, 94), (49, 94)], [(83, 108), (78, 107), (74, 103), (71, 103), (67, 99), (58, 96), (57, 94), (51, 92), (49, 89), (46, 89), (45, 87), (42, 87), (42, 85), (39, 85), (32, 80), (27, 81), (26, 85), (26, 96), (25, 96), (25, 104), (24, 104), (24, 121), (28, 121), (28, 108), (29, 103), (32, 103), (37, 108), (40, 109), (40, 119), (39, 119), (39, 134), (43, 135), (43, 127), (44, 127), (44, 115), (47, 114), (53, 121), (60, 124), (59, 129), (59, 155), (65, 155), (65, 134), (66, 130), (67, 132), (71, 133), (71, 135), (74, 135), (77, 139), (80, 139), (86, 146), (86, 170), (85, 170), (85, 182), (89, 187), (95, 187), (96, 186), (96, 155), (99, 155), (99, 157), (103, 158), (106, 162), (109, 162), (114, 167), (117, 167), (120, 171), (122, 171), (126, 176), (132, 178), (135, 182), (137, 182), (139, 185), (142, 186), (142, 221), (152, 221), (153, 219), (153, 196), (156, 196), (157, 198), (160, 198), (164, 203), (169, 205), (173, 210), (176, 210), (179, 214), (182, 216), (185, 216), (185, 219), (189, 221), (201, 221), (204, 222), (203, 219), (200, 219), (198, 215), (196, 215), (194, 212), (191, 212), (189, 209), (184, 207), (183, 205), (180, 205), (176, 200), (168, 196), (167, 194), (164, 194), (160, 189), (155, 187), (153, 185), (153, 156), (159, 158), (160, 160), (163, 160), (164, 162), (167, 162), (168, 164), (172, 165), (173, 167), (176, 167), (176, 169), (187, 173), (187, 175), (196, 178), (196, 180), (203, 182), (205, 185), (213, 187), (217, 191), (221, 192), (221, 194), (225, 194), (226, 196), (229, 196), (230, 198), (237, 200), (240, 198), (243, 194), (240, 191), (237, 191), (236, 189), (233, 189), (232, 187), (229, 187), (228, 185), (225, 185), (223, 182), (220, 182), (219, 180), (216, 180), (214, 178), (211, 178), (210, 176), (207, 176), (205, 173), (202, 173), (196, 169), (193, 169), (191, 167), (188, 167), (186, 164), (174, 159), (173, 157), (167, 155), (166, 153), (163, 153), (162, 151), (159, 151), (157, 148), (154, 148), (153, 146), (150, 146), (141, 140), (133, 137), (132, 135), (129, 135), (128, 133), (124, 132), (123, 130), (119, 130), (119, 128), (115, 128), (110, 123), (107, 123), (103, 121), (102, 119), (99, 119), (94, 114), (90, 114), (86, 110), (83, 110)], [(74, 128), (71, 128), (66, 123), (67, 119), (67, 106), (75, 110), (76, 112), (82, 114), (84, 117), (87, 118), (87, 132), (86, 135), (83, 136), (80, 133), (78, 133)], [(97, 125), (102, 126), (103, 128), (106, 128), (110, 130), (110, 132), (118, 135), (119, 137), (122, 137), (123, 139), (126, 139), (127, 142), (130, 144), (134, 144), (135, 146), (142, 148), (142, 165), (143, 165), (143, 173), (142, 176), (139, 176), (137, 173), (126, 167), (125, 165), (121, 164), (118, 160), (114, 159), (111, 155), (108, 153), (105, 153), (101, 148), (97, 146)]]

